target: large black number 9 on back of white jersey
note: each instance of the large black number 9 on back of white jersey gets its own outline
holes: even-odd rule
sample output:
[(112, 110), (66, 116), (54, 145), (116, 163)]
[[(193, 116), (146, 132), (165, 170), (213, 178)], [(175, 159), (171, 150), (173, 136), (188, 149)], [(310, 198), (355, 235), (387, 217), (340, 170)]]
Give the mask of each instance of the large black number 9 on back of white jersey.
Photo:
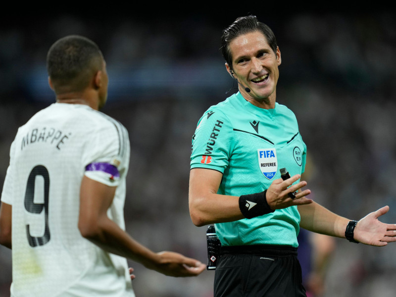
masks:
[[(38, 183), (40, 186), (43, 186), (42, 189), (36, 189), (36, 177), (41, 176), (44, 183)], [(35, 203), (34, 196), (40, 193), (39, 197), (41, 200), (44, 200), (44, 203)], [(36, 201), (39, 199), (36, 197)], [(44, 198), (44, 199), (43, 199)], [(45, 228), (44, 235), (41, 237), (34, 237), (30, 232), (30, 225), (26, 224), (26, 235), (28, 238), (29, 245), (31, 247), (44, 246), (49, 242), (50, 233), (49, 233), (49, 225), (48, 225), (48, 203), (49, 203), (49, 173), (46, 167), (43, 165), (35, 166), (29, 174), (28, 182), (26, 185), (26, 193), (25, 193), (25, 209), (33, 214), (41, 214), (44, 210), (44, 220), (45, 220)]]

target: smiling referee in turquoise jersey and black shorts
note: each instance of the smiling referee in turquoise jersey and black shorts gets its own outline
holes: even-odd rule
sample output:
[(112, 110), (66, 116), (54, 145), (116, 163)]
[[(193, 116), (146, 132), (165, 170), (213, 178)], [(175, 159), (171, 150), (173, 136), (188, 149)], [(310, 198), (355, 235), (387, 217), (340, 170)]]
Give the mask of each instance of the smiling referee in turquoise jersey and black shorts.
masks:
[(306, 146), (294, 113), (276, 102), (281, 52), (272, 30), (255, 16), (238, 18), (223, 31), (221, 48), (239, 92), (199, 119), (189, 190), (193, 223), (215, 224), (222, 244), (214, 296), (306, 296), (299, 227), (385, 246), (396, 241), (396, 225), (378, 220), (388, 206), (356, 222), (307, 198), (300, 181)]

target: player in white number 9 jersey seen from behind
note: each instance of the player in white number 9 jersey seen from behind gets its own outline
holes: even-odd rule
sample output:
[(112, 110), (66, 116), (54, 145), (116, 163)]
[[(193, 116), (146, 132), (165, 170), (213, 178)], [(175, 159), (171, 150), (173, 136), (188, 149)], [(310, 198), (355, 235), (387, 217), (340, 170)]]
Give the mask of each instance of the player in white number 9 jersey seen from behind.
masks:
[(108, 77), (98, 46), (61, 38), (47, 68), (56, 102), (18, 129), (1, 195), (11, 296), (133, 297), (126, 258), (169, 276), (200, 274), (198, 260), (153, 252), (124, 230), (129, 139), (99, 111)]

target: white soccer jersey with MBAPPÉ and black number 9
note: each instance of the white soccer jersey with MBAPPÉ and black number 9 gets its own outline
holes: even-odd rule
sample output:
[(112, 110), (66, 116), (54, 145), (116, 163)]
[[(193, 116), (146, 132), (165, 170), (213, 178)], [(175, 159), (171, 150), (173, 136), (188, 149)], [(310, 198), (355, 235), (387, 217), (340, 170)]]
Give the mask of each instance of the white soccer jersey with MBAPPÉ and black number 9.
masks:
[(78, 229), (84, 174), (117, 186), (108, 216), (125, 229), (129, 154), (125, 127), (87, 105), (53, 103), (19, 128), (1, 195), (12, 205), (11, 296), (134, 296), (126, 259)]

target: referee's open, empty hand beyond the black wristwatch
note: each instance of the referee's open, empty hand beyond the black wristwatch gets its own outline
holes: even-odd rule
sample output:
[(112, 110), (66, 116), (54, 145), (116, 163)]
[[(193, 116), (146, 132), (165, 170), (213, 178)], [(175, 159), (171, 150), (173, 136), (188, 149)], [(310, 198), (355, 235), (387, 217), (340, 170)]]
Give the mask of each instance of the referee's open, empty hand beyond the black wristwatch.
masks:
[(353, 239), (365, 245), (383, 247), (396, 241), (396, 224), (385, 224), (378, 218), (389, 211), (389, 206), (384, 206), (371, 212), (357, 222), (353, 231)]

